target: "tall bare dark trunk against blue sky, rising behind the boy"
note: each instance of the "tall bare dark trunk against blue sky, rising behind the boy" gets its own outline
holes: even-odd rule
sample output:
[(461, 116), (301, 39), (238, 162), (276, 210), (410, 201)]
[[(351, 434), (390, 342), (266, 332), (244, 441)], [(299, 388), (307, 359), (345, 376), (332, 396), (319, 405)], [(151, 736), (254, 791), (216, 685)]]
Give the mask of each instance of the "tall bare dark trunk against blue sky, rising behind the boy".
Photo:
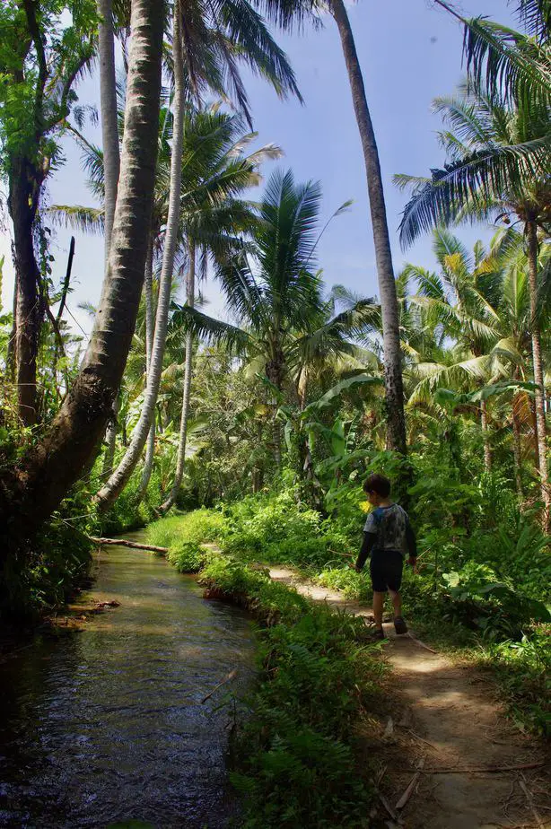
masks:
[(380, 308), (385, 364), (385, 389), (388, 415), (388, 444), (390, 449), (406, 454), (406, 421), (404, 417), (404, 389), (402, 355), (400, 349), (398, 299), (390, 250), (389, 225), (385, 206), (379, 151), (367, 105), (362, 70), (354, 45), (354, 36), (343, 0), (329, 0), (331, 13), (337, 22), (346, 69), (352, 90), (354, 112), (367, 175), (367, 188), (372, 214), (373, 241), (379, 277)]

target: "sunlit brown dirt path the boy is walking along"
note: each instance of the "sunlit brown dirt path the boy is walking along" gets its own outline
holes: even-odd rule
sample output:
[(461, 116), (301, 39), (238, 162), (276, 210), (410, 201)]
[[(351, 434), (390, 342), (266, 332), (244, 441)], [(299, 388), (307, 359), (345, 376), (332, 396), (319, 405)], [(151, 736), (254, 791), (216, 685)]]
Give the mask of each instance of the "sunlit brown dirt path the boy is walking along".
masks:
[[(282, 567), (270, 576), (313, 601), (327, 602), (356, 615), (371, 610), (346, 600), (335, 590), (300, 580)], [(472, 666), (462, 666), (425, 650), (412, 635), (396, 636), (385, 624), (386, 656), (393, 668), (398, 695), (408, 704), (391, 733), (372, 746), (381, 760), (380, 789), (391, 811), (424, 758), (426, 769), (487, 769), (543, 762), (537, 740), (522, 735), (503, 716), (494, 686)], [(389, 729), (390, 730), (390, 727)], [(386, 746), (383, 745), (386, 743)], [(384, 762), (383, 762), (384, 761)], [(415, 793), (397, 822), (386, 809), (385, 822), (408, 829), (490, 829), (551, 827), (551, 768), (496, 773), (423, 773)]]

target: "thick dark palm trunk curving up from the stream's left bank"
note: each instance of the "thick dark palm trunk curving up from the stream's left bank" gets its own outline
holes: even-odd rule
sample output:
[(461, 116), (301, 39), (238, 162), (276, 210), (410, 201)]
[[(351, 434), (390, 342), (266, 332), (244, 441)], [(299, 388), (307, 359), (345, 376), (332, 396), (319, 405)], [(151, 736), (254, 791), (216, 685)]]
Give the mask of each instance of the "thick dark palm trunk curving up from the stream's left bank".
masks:
[(133, 0), (132, 43), (121, 178), (109, 266), (81, 369), (43, 440), (16, 469), (4, 469), (0, 527), (12, 533), (0, 556), (18, 554), (81, 475), (101, 440), (127, 363), (151, 226), (161, 98), (163, 13), (158, 0)]

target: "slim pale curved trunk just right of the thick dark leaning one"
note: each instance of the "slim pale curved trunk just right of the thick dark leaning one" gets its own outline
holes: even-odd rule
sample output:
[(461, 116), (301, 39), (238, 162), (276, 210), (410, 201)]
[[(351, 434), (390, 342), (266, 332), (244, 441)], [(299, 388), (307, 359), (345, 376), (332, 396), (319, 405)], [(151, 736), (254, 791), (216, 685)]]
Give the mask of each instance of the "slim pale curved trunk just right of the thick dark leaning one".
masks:
[[(128, 480), (136, 468), (136, 464), (142, 455), (145, 441), (153, 421), (155, 404), (161, 383), (162, 360), (166, 344), (166, 332), (169, 319), (169, 307), (171, 304), (172, 271), (174, 267), (174, 255), (178, 241), (179, 230), (179, 203), (180, 186), (182, 174), (182, 148), (183, 148), (183, 124), (185, 108), (185, 83), (183, 77), (183, 66), (181, 59), (181, 35), (179, 26), (179, 3), (174, 4), (174, 133), (171, 156), (171, 190), (169, 195), (169, 214), (162, 257), (162, 271), (159, 287), (159, 301), (157, 303), (157, 315), (155, 319), (155, 336), (151, 355), (147, 387), (145, 388), (144, 404), (136, 428), (132, 433), (132, 439), (120, 461), (117, 469), (109, 481), (101, 487), (96, 495), (96, 502), (101, 511), (109, 509), (109, 506), (116, 501), (118, 495), (123, 491)], [(149, 233), (147, 234), (149, 238)]]

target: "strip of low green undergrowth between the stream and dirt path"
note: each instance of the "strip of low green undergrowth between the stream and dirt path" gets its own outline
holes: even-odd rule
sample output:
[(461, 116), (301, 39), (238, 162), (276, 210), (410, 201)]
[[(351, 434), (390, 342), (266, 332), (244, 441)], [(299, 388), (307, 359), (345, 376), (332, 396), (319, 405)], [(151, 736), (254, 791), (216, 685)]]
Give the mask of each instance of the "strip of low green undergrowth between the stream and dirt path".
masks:
[(369, 769), (358, 767), (356, 724), (381, 705), (383, 664), (363, 621), (311, 606), (267, 572), (216, 556), (201, 572), (207, 595), (252, 612), (258, 684), (236, 738), (232, 783), (243, 825), (368, 826)]

